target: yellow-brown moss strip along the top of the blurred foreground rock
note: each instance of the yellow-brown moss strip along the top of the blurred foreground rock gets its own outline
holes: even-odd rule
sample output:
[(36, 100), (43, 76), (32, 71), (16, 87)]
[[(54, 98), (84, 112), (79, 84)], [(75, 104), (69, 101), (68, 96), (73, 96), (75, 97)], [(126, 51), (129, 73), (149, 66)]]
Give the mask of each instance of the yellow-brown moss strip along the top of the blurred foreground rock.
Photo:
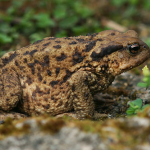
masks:
[[(150, 118), (150, 108), (146, 108), (138, 116)], [(24, 121), (35, 120), (39, 130), (45, 134), (55, 134), (62, 127), (77, 127), (81, 131), (97, 133), (103, 142), (109, 143), (110, 149), (118, 150), (130, 147), (134, 149), (137, 144), (144, 144), (148, 140), (150, 128), (131, 127), (129, 122), (132, 118), (122, 119), (106, 119), (105, 121), (92, 120), (74, 120), (69, 117), (55, 118), (43, 115), (40, 117), (31, 117), (19, 121), (7, 119), (3, 125), (0, 125), (0, 139), (10, 135), (20, 135), (29, 133), (30, 126)], [(139, 118), (140, 119), (140, 118)], [(17, 128), (16, 125), (21, 123), (22, 127)]]

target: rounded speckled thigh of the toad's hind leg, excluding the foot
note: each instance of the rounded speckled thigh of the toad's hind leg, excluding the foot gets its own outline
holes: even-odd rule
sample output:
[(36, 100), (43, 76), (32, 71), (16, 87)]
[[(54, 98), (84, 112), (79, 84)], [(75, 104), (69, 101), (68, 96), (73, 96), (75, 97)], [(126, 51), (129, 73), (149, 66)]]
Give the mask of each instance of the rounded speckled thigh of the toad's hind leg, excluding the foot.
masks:
[(5, 71), (0, 75), (0, 110), (10, 111), (21, 99), (22, 89), (15, 71)]

